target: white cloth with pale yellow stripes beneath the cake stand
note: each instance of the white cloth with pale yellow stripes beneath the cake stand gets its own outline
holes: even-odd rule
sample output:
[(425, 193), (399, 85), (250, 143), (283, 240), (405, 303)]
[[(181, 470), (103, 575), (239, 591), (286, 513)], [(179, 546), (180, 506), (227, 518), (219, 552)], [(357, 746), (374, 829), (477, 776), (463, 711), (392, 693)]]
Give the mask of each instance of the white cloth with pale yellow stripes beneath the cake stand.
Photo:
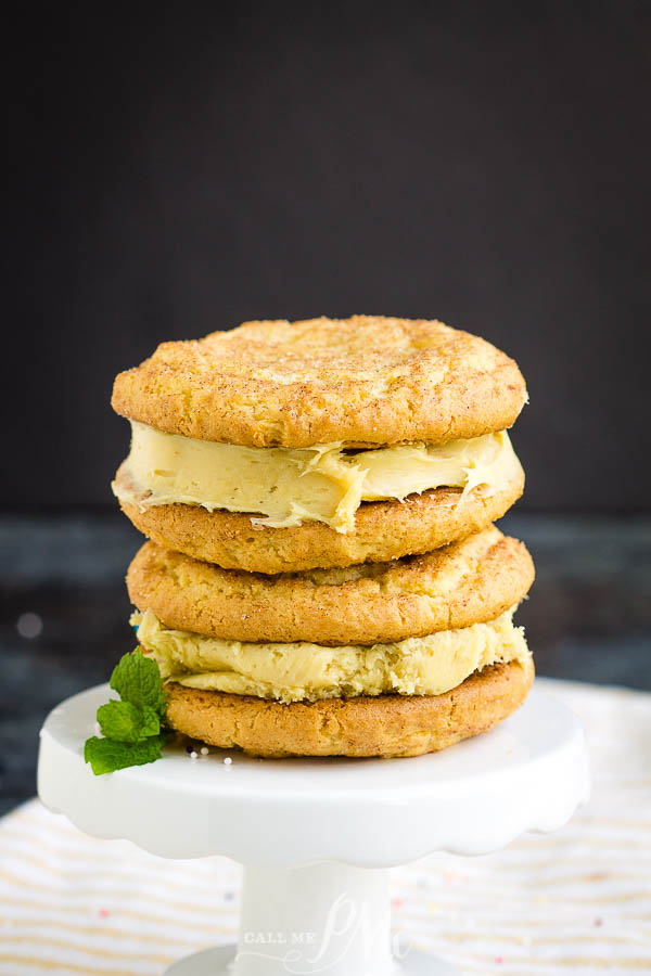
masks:
[[(651, 694), (540, 683), (586, 727), (592, 799), (554, 834), (393, 871), (394, 927), (469, 974), (651, 973)], [(235, 937), (224, 858), (97, 840), (33, 800), (0, 822), (0, 864), (3, 976), (154, 976)]]

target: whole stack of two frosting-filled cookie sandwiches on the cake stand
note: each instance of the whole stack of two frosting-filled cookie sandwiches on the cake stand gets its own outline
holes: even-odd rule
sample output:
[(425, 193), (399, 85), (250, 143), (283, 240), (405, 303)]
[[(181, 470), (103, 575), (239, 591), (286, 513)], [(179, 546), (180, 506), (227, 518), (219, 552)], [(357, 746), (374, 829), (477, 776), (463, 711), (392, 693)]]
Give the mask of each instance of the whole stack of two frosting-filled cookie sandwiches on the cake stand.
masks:
[(516, 364), (441, 322), (247, 322), (115, 381), (127, 585), (168, 723), (257, 756), (416, 756), (518, 708), (534, 578)]

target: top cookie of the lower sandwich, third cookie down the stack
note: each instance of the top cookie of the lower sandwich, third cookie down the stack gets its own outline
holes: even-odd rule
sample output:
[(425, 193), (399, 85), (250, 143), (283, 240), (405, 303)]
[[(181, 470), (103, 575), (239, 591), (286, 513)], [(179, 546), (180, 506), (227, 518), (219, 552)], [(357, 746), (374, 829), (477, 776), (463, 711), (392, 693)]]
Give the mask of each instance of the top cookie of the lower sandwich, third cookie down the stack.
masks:
[(391, 563), (280, 576), (221, 569), (154, 542), (127, 574), (131, 602), (165, 627), (235, 641), (373, 644), (494, 620), (534, 580), (522, 542), (489, 526)]

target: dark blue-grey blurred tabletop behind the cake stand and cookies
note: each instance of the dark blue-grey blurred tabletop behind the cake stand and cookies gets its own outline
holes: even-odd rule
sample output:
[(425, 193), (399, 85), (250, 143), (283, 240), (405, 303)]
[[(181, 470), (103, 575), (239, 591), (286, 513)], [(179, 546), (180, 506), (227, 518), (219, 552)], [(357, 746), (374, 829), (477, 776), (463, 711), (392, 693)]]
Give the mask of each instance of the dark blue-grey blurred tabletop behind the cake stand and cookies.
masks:
[[(503, 518), (537, 568), (518, 620), (538, 673), (651, 689), (651, 518)], [(117, 513), (0, 518), (0, 812), (35, 792), (38, 730), (132, 646), (124, 586), (141, 537)], [(37, 614), (42, 632), (21, 637)]]

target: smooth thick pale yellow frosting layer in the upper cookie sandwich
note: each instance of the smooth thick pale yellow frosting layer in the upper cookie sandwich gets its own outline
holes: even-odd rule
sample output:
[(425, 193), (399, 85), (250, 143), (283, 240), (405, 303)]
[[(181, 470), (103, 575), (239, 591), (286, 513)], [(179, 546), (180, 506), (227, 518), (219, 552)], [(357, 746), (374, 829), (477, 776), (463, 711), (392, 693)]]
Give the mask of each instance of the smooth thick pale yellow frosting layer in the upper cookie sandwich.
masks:
[(276, 528), (315, 521), (347, 532), (363, 501), (403, 500), (444, 486), (464, 495), (477, 485), (497, 489), (516, 463), (506, 431), (437, 447), (352, 451), (342, 444), (251, 448), (131, 426), (131, 450), (113, 484), (122, 501), (248, 512), (254, 525)]

